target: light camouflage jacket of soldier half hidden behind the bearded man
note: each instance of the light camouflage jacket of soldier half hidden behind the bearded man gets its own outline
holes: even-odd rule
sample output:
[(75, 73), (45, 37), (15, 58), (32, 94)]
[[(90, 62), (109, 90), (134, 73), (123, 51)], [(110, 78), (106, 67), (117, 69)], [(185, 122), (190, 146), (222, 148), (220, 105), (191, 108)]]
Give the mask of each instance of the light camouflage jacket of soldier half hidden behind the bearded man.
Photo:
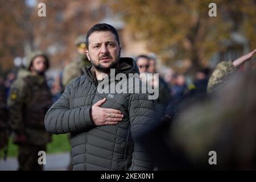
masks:
[(79, 77), (83, 73), (84, 67), (90, 65), (90, 62), (85, 56), (79, 55), (75, 61), (72, 61), (65, 66), (63, 72), (62, 84), (64, 88), (69, 84), (70, 81)]

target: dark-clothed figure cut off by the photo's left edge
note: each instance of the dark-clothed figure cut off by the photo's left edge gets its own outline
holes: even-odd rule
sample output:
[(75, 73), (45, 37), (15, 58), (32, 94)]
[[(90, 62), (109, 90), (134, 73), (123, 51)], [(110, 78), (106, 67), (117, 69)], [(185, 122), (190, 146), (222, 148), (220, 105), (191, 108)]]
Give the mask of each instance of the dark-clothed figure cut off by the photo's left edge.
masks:
[(0, 85), (0, 150), (6, 146), (9, 139), (7, 117), (5, 87)]

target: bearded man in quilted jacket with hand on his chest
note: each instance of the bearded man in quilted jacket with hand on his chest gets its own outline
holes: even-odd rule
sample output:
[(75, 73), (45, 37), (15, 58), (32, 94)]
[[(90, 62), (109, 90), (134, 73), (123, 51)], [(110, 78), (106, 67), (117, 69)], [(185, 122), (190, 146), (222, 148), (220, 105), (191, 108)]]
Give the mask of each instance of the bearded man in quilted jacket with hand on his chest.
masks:
[[(141, 136), (154, 127), (155, 101), (135, 92), (143, 88), (135, 61), (120, 57), (118, 33), (109, 24), (90, 28), (86, 44), (92, 66), (48, 110), (46, 130), (71, 134), (73, 170), (154, 169)], [(116, 79), (119, 73), (122, 79)], [(130, 87), (128, 77), (140, 86)], [(118, 85), (129, 92), (109, 92)]]

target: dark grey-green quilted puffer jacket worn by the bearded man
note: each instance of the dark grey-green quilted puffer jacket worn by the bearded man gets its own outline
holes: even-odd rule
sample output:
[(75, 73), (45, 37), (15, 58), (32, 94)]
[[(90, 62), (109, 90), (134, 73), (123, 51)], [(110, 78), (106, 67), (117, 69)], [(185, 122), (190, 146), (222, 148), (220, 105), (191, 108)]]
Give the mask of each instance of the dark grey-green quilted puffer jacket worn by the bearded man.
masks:
[[(117, 73), (128, 76), (139, 71), (133, 59), (122, 57)], [(108, 76), (110, 83), (123, 81), (111, 79), (112, 73)], [(48, 110), (46, 130), (53, 134), (71, 133), (73, 170), (154, 169), (141, 136), (156, 122), (155, 101), (148, 100), (148, 93), (99, 93), (98, 85), (94, 67), (85, 68), (85, 75), (71, 81)], [(91, 120), (91, 107), (103, 98), (106, 102), (101, 107), (122, 111), (123, 120), (117, 125), (95, 126)]]

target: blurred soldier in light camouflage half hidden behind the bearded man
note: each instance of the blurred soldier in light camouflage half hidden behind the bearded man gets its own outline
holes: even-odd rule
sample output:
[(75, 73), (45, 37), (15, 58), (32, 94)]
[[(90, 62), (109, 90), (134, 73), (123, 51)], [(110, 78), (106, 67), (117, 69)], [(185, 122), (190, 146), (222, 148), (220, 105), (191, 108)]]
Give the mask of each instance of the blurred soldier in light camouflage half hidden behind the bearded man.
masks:
[(82, 75), (84, 67), (90, 65), (90, 61), (87, 59), (86, 51), (86, 36), (79, 36), (76, 40), (77, 58), (68, 65), (65, 66), (63, 72), (63, 86), (66, 87), (70, 81), (74, 78)]

